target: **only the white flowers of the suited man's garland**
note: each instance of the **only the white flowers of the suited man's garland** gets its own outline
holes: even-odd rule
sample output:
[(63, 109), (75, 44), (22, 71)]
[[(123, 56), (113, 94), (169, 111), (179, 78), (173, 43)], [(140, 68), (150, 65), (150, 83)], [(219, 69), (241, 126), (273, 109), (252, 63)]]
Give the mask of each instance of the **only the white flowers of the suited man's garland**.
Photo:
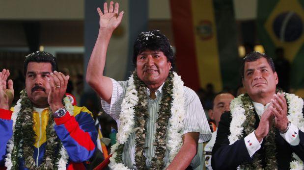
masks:
[[(303, 118), (303, 99), (294, 95), (294, 94), (288, 94), (284, 93), (284, 95), (287, 98), (288, 103), (288, 120), (297, 126), (301, 131), (304, 131), (304, 118)], [(243, 102), (242, 97), (244, 94), (234, 98), (231, 101), (230, 104), (230, 112), (232, 121), (230, 123), (230, 135), (228, 136), (229, 139), (229, 145), (232, 145), (237, 140), (241, 139), (243, 137), (243, 130), (244, 127), (242, 124), (246, 120), (245, 116), (245, 109), (243, 108)], [(290, 162), (290, 168), (291, 170), (303, 170), (304, 164), (303, 161), (296, 155), (295, 153), (292, 153), (292, 157), (295, 159)]]

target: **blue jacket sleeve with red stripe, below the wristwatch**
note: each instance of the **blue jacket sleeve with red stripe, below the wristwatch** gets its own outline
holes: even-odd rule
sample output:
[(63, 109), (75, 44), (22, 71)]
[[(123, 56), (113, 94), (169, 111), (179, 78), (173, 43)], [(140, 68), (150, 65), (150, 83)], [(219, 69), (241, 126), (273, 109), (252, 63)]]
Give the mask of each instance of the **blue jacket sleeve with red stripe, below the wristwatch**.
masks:
[(85, 107), (76, 116), (66, 113), (55, 118), (55, 131), (73, 162), (83, 162), (94, 153), (97, 131), (94, 120)]

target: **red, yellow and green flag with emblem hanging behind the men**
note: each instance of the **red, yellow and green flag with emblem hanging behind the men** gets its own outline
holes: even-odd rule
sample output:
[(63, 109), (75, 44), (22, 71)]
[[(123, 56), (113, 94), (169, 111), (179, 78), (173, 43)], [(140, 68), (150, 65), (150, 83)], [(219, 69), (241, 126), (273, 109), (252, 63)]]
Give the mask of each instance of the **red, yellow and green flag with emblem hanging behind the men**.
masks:
[(232, 0), (171, 0), (176, 66), (193, 90), (216, 91), (240, 79)]

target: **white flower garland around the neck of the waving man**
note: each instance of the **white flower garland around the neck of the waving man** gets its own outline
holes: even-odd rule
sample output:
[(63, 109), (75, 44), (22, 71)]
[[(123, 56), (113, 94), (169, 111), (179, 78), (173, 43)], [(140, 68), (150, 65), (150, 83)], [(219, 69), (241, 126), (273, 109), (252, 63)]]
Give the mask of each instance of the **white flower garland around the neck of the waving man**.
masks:
[[(182, 133), (184, 118), (185, 118), (185, 98), (184, 98), (184, 82), (181, 77), (173, 72), (173, 100), (171, 106), (171, 118), (169, 118), (168, 137), (166, 148), (169, 150), (169, 162), (168, 166), (173, 158), (178, 153), (182, 146)], [(135, 124), (135, 110), (134, 106), (138, 103), (138, 92), (135, 89), (133, 75), (129, 77), (128, 87), (126, 89), (125, 98), (121, 104), (121, 113), (119, 116), (119, 128), (116, 135), (117, 143), (111, 146), (111, 158), (109, 167), (112, 170), (129, 170), (122, 163), (116, 163), (116, 150), (120, 144), (124, 144), (128, 141), (129, 135), (134, 131)]]

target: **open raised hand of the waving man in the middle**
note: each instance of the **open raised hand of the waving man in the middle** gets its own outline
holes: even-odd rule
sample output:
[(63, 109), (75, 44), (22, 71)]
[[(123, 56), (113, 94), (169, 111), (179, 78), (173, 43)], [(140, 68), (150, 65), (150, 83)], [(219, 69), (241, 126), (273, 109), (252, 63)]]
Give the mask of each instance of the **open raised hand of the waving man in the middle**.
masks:
[(108, 3), (104, 3), (104, 13), (102, 13), (100, 8), (97, 8), (98, 14), (100, 16), (99, 25), (101, 29), (110, 29), (113, 31), (121, 22), (123, 11), (118, 15), (119, 4), (115, 3), (115, 8), (113, 9), (113, 1), (110, 2), (110, 7), (108, 10)]

